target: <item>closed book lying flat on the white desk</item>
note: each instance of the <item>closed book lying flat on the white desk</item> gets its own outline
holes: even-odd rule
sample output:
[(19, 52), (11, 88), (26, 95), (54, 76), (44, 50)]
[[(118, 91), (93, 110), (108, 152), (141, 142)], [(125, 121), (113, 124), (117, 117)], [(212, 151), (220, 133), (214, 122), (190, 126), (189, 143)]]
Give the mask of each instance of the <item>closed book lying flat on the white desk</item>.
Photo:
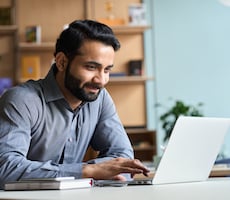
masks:
[(77, 188), (90, 188), (93, 186), (93, 179), (74, 177), (23, 179), (20, 181), (8, 182), (4, 190), (64, 190)]

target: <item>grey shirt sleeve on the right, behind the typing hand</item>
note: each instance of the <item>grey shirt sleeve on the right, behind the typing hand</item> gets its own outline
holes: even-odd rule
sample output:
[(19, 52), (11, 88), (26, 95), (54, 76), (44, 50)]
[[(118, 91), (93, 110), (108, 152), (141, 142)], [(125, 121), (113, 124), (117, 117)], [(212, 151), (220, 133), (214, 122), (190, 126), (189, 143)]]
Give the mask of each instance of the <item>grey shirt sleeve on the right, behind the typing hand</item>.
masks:
[(106, 90), (102, 101), (100, 119), (91, 140), (91, 145), (96, 151), (100, 152), (97, 159), (90, 161), (92, 163), (116, 157), (134, 157), (128, 135), (116, 112), (115, 104)]

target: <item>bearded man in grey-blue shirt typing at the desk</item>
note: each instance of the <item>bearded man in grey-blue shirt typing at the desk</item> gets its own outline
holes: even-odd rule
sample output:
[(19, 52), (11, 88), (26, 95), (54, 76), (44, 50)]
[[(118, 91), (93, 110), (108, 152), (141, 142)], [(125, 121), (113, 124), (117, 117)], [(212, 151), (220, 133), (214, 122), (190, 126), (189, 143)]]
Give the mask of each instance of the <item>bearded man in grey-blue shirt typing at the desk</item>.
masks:
[[(72, 22), (56, 42), (48, 75), (0, 99), (0, 183), (74, 176), (126, 180), (147, 174), (104, 88), (119, 41), (104, 24)], [(83, 162), (91, 146), (98, 158)], [(125, 175), (124, 175), (125, 174)]]

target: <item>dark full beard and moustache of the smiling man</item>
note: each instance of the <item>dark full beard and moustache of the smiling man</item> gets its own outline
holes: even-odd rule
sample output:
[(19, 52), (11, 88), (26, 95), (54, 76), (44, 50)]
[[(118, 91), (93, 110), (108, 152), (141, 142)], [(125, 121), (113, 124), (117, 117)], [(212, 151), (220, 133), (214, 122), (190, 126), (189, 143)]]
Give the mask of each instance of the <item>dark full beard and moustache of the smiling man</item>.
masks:
[[(81, 80), (74, 77), (70, 73), (70, 64), (68, 64), (66, 68), (66, 74), (65, 74), (65, 87), (71, 92), (73, 96), (78, 98), (81, 101), (84, 102), (91, 102), (95, 101), (98, 97), (98, 95), (101, 92), (102, 86), (99, 84), (94, 84), (90, 82), (86, 82), (82, 87), (81, 87)], [(99, 89), (97, 93), (94, 92), (87, 92), (85, 91), (85, 87), (93, 87)]]

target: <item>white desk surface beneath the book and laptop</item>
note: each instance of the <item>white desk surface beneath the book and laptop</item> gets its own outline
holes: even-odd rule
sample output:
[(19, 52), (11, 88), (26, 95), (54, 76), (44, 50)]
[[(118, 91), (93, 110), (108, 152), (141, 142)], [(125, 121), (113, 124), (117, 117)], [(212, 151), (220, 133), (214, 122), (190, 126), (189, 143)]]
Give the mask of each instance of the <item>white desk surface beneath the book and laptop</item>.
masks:
[(95, 187), (59, 191), (0, 191), (0, 199), (53, 200), (229, 200), (230, 178), (151, 186)]

